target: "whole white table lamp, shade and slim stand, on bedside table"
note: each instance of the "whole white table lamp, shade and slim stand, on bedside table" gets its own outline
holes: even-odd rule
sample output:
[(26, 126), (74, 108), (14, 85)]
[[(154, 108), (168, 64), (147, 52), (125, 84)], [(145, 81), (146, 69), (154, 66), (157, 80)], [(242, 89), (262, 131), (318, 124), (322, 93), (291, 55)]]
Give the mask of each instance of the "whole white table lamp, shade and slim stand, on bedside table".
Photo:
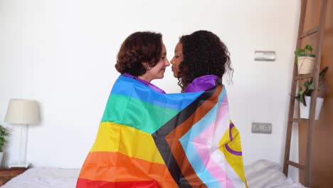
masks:
[(11, 99), (9, 101), (5, 122), (21, 125), (21, 139), (19, 147), (19, 160), (17, 164), (9, 167), (28, 167), (26, 162), (26, 145), (28, 140), (28, 125), (39, 122), (39, 110), (36, 100)]

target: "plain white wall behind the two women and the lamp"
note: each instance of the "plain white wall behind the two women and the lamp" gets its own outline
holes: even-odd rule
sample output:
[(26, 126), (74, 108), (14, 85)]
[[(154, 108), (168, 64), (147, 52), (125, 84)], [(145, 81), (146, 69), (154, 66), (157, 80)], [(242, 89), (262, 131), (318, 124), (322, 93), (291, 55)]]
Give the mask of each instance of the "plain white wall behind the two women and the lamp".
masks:
[[(213, 31), (231, 52), (227, 85), (245, 164), (281, 164), (300, 2), (0, 0), (0, 123), (11, 128), (5, 164), (18, 159), (19, 129), (4, 122), (10, 98), (41, 103), (40, 125), (28, 127), (27, 157), (35, 166), (80, 167), (93, 145), (112, 84), (115, 57), (134, 31), (159, 31), (169, 60), (182, 34)], [(273, 62), (255, 50), (276, 51)], [(154, 81), (179, 92), (169, 68)], [(251, 122), (272, 122), (271, 135)]]

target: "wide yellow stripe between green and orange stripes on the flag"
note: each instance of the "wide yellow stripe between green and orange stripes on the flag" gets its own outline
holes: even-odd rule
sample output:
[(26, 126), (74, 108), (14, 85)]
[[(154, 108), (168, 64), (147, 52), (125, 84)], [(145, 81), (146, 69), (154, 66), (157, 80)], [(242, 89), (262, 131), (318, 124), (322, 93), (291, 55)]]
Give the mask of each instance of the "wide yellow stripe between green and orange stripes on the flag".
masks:
[(115, 122), (100, 123), (90, 152), (120, 152), (129, 157), (164, 164), (152, 135)]

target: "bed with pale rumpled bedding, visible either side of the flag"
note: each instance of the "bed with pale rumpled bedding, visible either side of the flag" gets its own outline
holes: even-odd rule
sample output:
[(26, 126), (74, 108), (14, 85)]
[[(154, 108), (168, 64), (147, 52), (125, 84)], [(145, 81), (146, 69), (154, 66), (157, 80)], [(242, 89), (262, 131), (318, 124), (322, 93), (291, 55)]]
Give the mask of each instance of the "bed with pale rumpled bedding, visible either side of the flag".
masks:
[[(14, 177), (1, 188), (73, 188), (80, 169), (36, 167)], [(268, 160), (258, 160), (245, 166), (248, 187), (303, 188), (302, 184), (285, 177), (280, 166)]]

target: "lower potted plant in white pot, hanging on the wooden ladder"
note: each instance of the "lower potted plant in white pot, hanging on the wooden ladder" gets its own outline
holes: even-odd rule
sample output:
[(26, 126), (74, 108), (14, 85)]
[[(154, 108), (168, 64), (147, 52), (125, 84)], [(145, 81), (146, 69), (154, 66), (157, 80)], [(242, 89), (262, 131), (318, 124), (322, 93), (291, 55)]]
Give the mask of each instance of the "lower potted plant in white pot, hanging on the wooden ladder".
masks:
[[(328, 67), (325, 67), (319, 73), (319, 84), (318, 91), (323, 88), (323, 78), (324, 74), (327, 72)], [(296, 100), (300, 103), (300, 117), (308, 119), (310, 115), (310, 101), (311, 94), (314, 90), (314, 83), (312, 83), (312, 78), (307, 79), (300, 83), (300, 90), (296, 95)], [(324, 98), (317, 97), (316, 108), (315, 108), (315, 120), (318, 120), (320, 110), (322, 109), (322, 103), (324, 102)]]

